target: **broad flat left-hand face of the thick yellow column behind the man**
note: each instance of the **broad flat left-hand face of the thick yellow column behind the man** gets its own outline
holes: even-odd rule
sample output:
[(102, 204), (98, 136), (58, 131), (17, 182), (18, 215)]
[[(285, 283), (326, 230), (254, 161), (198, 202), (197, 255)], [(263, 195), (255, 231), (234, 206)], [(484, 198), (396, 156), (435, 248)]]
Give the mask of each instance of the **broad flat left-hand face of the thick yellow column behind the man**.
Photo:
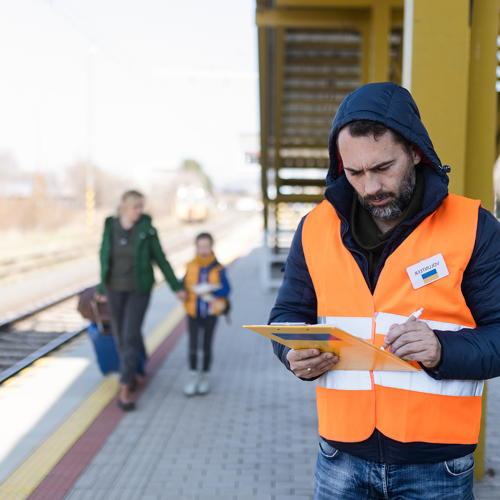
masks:
[(456, 194), (465, 192), (469, 7), (469, 0), (414, 0), (413, 10), (411, 93)]

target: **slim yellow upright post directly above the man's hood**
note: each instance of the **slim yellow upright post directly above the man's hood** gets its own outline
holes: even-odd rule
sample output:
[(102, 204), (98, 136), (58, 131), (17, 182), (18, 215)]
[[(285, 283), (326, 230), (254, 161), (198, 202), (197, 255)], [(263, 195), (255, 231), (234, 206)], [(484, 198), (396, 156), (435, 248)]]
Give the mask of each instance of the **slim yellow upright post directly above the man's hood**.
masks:
[(391, 10), (387, 0), (373, 0), (370, 19), (369, 82), (387, 81)]

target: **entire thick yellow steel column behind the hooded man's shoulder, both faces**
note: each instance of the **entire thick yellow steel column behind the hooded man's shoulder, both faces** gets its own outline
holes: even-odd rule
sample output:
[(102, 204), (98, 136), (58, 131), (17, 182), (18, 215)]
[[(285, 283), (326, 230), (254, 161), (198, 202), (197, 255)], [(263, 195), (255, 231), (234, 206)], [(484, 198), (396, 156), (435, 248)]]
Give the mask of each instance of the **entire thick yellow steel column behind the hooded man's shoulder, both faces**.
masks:
[[(498, 0), (414, 0), (411, 90), (443, 163), (450, 191), (492, 209), (496, 139)], [(471, 20), (471, 28), (469, 22)], [(486, 389), (486, 387), (485, 387)], [(486, 394), (474, 458), (484, 475)]]

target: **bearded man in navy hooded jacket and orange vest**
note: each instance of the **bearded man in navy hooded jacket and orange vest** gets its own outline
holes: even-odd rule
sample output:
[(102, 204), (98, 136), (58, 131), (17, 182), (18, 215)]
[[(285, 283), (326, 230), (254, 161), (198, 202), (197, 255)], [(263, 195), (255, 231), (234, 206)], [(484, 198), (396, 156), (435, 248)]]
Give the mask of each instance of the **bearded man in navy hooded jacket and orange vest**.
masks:
[(273, 343), (316, 380), (314, 497), (473, 498), (483, 380), (500, 375), (500, 224), (448, 193), (450, 168), (394, 83), (343, 100), (328, 151), (326, 199), (297, 228), (269, 322), (334, 324), (419, 370), (347, 371)]

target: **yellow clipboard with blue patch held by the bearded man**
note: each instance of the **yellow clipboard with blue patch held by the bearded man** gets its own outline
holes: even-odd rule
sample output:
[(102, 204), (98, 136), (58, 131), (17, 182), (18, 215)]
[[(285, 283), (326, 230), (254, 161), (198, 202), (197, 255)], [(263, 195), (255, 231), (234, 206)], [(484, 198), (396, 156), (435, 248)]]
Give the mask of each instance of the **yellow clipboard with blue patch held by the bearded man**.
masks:
[(334, 352), (340, 360), (333, 370), (419, 371), (388, 350), (380, 349), (333, 325), (253, 324), (243, 325), (243, 328), (256, 331), (292, 349), (316, 348), (324, 352)]

